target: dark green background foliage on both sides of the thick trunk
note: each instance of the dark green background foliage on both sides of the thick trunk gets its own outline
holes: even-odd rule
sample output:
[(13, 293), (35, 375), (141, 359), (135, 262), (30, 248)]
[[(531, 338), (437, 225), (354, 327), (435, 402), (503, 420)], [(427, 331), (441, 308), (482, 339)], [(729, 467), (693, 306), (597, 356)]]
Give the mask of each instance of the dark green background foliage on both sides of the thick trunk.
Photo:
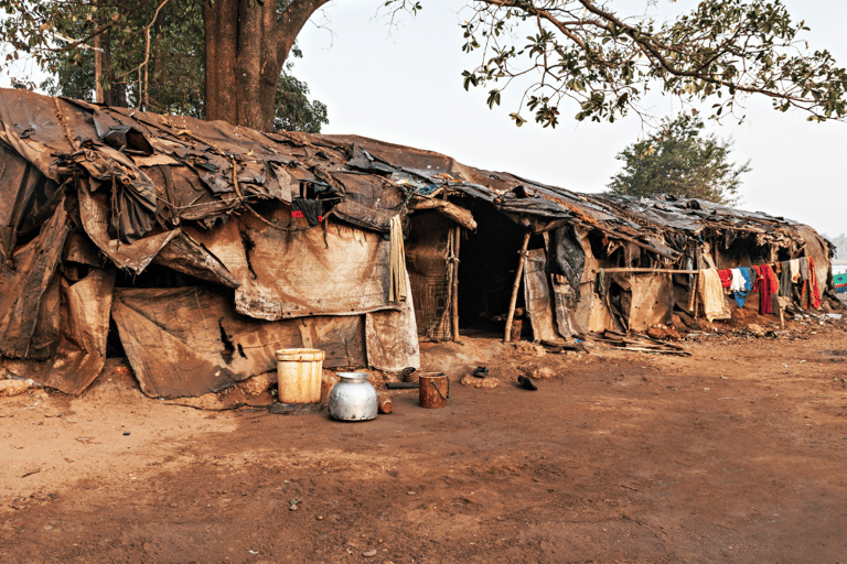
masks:
[[(203, 118), (205, 115), (204, 28), (201, 4), (194, 0), (141, 2), (89, 11), (85, 3), (67, 4), (53, 20), (56, 48), (39, 52), (52, 73), (39, 86), (52, 96), (93, 101), (97, 87), (95, 52), (101, 54), (104, 101), (160, 113)], [(90, 7), (94, 8), (94, 7)], [(122, 21), (82, 48), (65, 50), (72, 37), (84, 37), (99, 20)], [(95, 41), (95, 39), (97, 41)], [(308, 98), (309, 87), (291, 75), (294, 45), (277, 82), (274, 128), (318, 133), (329, 122), (326, 106)]]

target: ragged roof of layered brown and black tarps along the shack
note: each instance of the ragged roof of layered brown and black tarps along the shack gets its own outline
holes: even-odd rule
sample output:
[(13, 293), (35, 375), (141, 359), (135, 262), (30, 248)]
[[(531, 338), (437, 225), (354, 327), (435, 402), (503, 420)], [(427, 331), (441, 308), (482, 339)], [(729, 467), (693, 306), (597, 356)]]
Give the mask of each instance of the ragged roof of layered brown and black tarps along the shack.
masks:
[[(341, 194), (333, 214), (366, 229), (386, 231), (388, 218), (410, 197), (443, 187), (536, 224), (590, 225), (611, 237), (635, 239), (667, 258), (676, 256), (673, 241), (664, 238), (668, 230), (688, 236), (707, 228), (779, 236), (796, 226), (699, 199), (579, 194), (355, 135), (262, 133), (222, 121), (108, 108), (26, 90), (0, 93), (0, 142), (41, 172), (31, 175), (30, 184), (51, 184), (55, 192), (54, 185), (78, 171), (87, 173), (95, 202), (86, 207), (89, 213), (99, 208), (108, 229), (96, 234), (94, 226), (86, 226), (86, 230), (118, 267), (137, 272), (183, 223), (211, 227), (265, 200), (290, 204), (301, 182)], [(0, 208), (4, 254), (11, 251), (9, 229), (20, 229), (29, 219), (20, 207), (33, 206), (26, 202), (31, 194), (18, 196)], [(121, 253), (120, 242), (151, 234), (159, 234), (158, 239), (143, 250), (125, 248)], [(225, 278), (216, 278), (221, 275)]]

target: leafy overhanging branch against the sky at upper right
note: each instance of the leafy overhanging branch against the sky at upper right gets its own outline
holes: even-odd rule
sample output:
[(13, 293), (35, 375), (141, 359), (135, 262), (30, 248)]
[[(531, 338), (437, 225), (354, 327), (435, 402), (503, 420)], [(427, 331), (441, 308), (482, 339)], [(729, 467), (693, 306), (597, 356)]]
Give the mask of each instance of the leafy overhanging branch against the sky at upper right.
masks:
[[(406, 0), (404, 0), (406, 1)], [(463, 25), (464, 51), (482, 62), (464, 72), (464, 86), (490, 87), (489, 105), (515, 79), (530, 77), (522, 100), (544, 127), (555, 127), (560, 104), (579, 104), (576, 119), (614, 121), (643, 113), (651, 88), (684, 100), (714, 100), (712, 116), (736, 110), (748, 95), (774, 108), (800, 108), (810, 119), (847, 113), (847, 72), (827, 51), (810, 51), (780, 0), (699, 2), (688, 14), (660, 22), (626, 17), (614, 1), (478, 0)], [(522, 44), (515, 36), (530, 34)], [(521, 109), (512, 118), (521, 126)]]

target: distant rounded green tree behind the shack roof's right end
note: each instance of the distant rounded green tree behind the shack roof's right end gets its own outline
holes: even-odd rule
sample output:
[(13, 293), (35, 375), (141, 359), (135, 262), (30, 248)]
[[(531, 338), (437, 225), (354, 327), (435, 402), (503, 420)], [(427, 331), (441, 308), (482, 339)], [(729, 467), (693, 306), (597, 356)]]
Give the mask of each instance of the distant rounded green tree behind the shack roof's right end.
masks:
[(703, 135), (699, 117), (679, 115), (666, 121), (647, 139), (637, 141), (617, 156), (623, 170), (609, 183), (613, 194), (655, 196), (669, 194), (716, 204), (738, 204), (740, 176), (750, 161), (736, 165), (729, 160), (732, 140), (715, 133)]

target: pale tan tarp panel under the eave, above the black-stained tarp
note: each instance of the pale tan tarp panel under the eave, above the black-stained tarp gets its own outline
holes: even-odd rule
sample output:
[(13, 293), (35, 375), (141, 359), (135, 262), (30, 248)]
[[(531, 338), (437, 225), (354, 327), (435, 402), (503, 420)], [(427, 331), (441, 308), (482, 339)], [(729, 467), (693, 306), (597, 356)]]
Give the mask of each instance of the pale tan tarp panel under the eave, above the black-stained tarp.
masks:
[(382, 235), (339, 224), (283, 231), (244, 216), (192, 237), (240, 283), (242, 314), (276, 321), (397, 308), (388, 302), (390, 241)]

